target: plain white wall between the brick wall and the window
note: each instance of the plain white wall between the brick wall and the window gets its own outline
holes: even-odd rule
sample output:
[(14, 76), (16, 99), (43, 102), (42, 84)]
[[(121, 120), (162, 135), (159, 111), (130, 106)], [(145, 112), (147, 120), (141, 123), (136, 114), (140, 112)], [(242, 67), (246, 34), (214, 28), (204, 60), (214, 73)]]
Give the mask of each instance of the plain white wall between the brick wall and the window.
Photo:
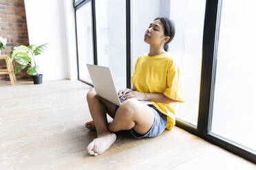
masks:
[(43, 73), (43, 80), (76, 78), (72, 0), (25, 0), (24, 2), (30, 44), (49, 43), (47, 51), (36, 56), (36, 63), (40, 66), (40, 73)]

